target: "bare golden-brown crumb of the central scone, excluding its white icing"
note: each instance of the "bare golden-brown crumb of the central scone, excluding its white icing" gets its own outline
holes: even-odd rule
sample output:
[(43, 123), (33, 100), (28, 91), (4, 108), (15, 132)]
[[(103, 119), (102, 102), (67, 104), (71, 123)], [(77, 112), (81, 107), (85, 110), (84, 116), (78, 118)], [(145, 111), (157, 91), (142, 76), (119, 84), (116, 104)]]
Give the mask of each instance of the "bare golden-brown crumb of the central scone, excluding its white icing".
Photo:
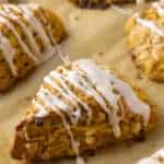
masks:
[[(71, 70), (72, 68), (70, 66), (59, 67), (57, 72), (62, 77), (65, 69)], [(59, 81), (55, 80), (55, 82), (58, 86), (61, 86)], [(80, 143), (80, 154), (90, 154), (97, 149), (107, 148), (110, 144), (121, 141), (143, 140), (145, 133), (156, 125), (154, 106), (151, 105), (144, 92), (138, 87), (133, 87), (137, 96), (150, 105), (151, 113), (149, 122), (145, 126), (143, 118), (140, 115), (131, 113), (125, 98), (121, 97), (119, 99), (118, 110), (118, 115), (121, 115), (121, 108), (124, 108), (124, 118), (119, 125), (121, 134), (119, 138), (116, 138), (109, 125), (108, 116), (104, 113), (101, 105), (91, 95), (85, 94), (71, 83), (67, 82), (67, 85), (92, 109), (92, 121), (90, 125), (87, 124), (87, 114), (84, 108), (77, 125), (71, 125), (69, 117), (65, 115), (67, 121), (71, 125), (70, 129), (74, 140)], [(44, 83), (42, 87), (50, 91), (51, 94), (57, 95), (61, 101), (68, 101), (62, 96), (61, 92), (58, 92), (49, 84)], [(38, 95), (36, 95), (35, 101), (43, 106), (45, 105)], [(69, 104), (69, 102), (67, 103)], [(37, 108), (34, 104), (27, 108), (26, 116), (15, 128), (14, 143), (11, 150), (12, 157), (27, 161), (48, 161), (56, 157), (75, 156), (68, 130), (63, 126), (61, 117), (52, 108), (47, 107), (46, 110), (48, 110), (48, 115), (42, 118), (35, 117)]]

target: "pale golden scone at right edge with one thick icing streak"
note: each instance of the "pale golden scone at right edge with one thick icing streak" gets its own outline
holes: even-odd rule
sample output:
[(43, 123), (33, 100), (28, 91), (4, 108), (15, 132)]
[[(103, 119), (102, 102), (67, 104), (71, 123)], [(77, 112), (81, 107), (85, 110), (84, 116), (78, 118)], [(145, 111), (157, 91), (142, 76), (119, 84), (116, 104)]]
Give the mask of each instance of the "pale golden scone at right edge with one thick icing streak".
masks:
[(126, 25), (131, 58), (150, 79), (164, 82), (164, 2), (134, 13)]

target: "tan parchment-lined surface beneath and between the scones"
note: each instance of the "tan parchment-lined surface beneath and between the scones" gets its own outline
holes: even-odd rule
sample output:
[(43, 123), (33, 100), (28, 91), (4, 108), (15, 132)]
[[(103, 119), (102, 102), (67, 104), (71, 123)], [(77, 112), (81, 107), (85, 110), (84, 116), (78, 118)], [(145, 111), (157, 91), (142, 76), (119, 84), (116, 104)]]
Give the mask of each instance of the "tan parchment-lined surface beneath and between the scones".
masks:
[[(87, 164), (134, 164), (138, 159), (148, 156), (164, 147), (164, 84), (149, 81), (132, 65), (126, 49), (124, 33), (124, 24), (128, 15), (116, 9), (80, 10), (66, 0), (35, 1), (56, 10), (63, 20), (69, 38), (62, 43), (61, 50), (62, 54), (70, 56), (70, 60), (90, 57), (98, 62), (110, 65), (144, 89), (157, 105), (159, 126), (144, 142), (122, 143), (98, 151), (95, 156), (87, 157)], [(62, 61), (56, 54), (50, 61), (35, 70), (26, 80), (20, 82), (10, 92), (0, 95), (0, 164), (22, 163), (10, 157), (14, 126), (25, 113), (43, 77), (60, 63)], [(73, 164), (74, 161), (61, 160), (50, 164), (54, 163)]]

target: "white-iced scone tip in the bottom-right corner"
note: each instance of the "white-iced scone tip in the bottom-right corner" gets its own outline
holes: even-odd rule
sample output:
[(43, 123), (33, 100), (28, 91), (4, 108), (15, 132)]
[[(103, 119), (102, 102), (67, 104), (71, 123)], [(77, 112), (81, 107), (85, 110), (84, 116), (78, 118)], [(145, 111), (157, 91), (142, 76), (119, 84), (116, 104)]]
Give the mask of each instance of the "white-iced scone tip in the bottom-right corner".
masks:
[(141, 159), (137, 164), (164, 164), (164, 149), (159, 150), (150, 157)]

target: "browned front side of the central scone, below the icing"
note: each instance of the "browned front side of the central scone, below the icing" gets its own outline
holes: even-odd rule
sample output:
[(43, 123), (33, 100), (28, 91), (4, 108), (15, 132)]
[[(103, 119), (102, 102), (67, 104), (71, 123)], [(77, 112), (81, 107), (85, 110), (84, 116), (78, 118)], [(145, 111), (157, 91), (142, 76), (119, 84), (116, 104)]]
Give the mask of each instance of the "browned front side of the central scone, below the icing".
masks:
[[(151, 115), (150, 124), (154, 124), (154, 114)], [(16, 128), (15, 140), (12, 147), (12, 157), (27, 161), (48, 161), (60, 157), (75, 156), (70, 145), (70, 139), (67, 130), (58, 122), (55, 127), (56, 117), (49, 116), (40, 124), (42, 120), (33, 119), (32, 121), (22, 121)], [(112, 144), (127, 140), (143, 140), (145, 132), (140, 129), (138, 120), (131, 118), (129, 122), (121, 122), (122, 136), (119, 139), (114, 137), (108, 122), (84, 127), (83, 125), (71, 127), (74, 139), (80, 141), (80, 154), (95, 152), (97, 149), (108, 148)], [(38, 126), (36, 125), (38, 122)], [(46, 125), (47, 122), (47, 125)], [(44, 125), (45, 124), (45, 125)], [(152, 126), (152, 125), (151, 125)], [(154, 126), (154, 125), (153, 125)], [(152, 129), (152, 127), (151, 127)], [(148, 129), (147, 129), (148, 130)], [(149, 129), (150, 130), (150, 129)], [(28, 136), (28, 139), (25, 137)]]

